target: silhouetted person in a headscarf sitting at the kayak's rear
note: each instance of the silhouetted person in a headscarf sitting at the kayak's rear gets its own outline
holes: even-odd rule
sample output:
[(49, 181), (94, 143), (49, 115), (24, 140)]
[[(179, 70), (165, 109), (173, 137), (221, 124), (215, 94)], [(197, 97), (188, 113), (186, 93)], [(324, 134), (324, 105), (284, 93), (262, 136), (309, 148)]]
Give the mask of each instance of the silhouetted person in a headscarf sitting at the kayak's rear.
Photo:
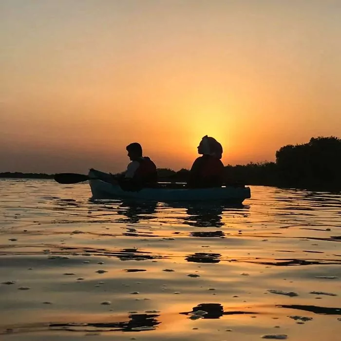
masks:
[(198, 146), (199, 156), (193, 163), (187, 186), (189, 188), (221, 187), (224, 183), (223, 147), (213, 137), (204, 136)]

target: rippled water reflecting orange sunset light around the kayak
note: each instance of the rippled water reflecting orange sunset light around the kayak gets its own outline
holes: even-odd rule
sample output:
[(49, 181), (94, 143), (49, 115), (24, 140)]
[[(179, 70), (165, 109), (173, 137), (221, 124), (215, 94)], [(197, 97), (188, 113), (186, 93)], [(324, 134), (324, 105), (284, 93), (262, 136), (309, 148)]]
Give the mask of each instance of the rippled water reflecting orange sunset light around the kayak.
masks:
[(1, 340), (336, 340), (341, 195), (251, 195), (134, 204), (0, 180)]

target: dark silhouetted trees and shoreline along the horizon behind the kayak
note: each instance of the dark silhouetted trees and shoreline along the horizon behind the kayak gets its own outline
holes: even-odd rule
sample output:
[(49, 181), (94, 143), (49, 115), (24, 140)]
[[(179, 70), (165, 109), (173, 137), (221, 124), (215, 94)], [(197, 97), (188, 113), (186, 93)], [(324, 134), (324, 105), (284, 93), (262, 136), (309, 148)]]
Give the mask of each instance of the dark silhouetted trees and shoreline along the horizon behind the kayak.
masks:
[[(158, 169), (160, 181), (186, 182), (189, 170)], [(308, 143), (286, 145), (276, 162), (225, 166), (226, 182), (282, 188), (341, 191), (341, 139), (312, 137)], [(54, 174), (3, 172), (1, 178), (52, 179)]]

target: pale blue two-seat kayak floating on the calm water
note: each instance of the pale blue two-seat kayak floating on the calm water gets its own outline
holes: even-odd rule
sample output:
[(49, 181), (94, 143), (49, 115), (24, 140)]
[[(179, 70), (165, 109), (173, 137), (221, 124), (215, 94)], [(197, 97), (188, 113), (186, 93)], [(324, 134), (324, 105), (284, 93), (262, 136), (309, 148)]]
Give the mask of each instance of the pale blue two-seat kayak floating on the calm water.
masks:
[[(100, 178), (103, 177), (103, 180)], [(126, 191), (108, 181), (110, 174), (97, 170), (89, 171), (89, 183), (96, 199), (143, 199), (154, 201), (210, 201), (222, 200), (229, 203), (242, 203), (251, 197), (249, 187), (220, 187), (204, 189), (171, 188), (175, 184), (160, 184), (159, 188), (144, 188), (139, 191)], [(91, 179), (95, 178), (95, 179)]]

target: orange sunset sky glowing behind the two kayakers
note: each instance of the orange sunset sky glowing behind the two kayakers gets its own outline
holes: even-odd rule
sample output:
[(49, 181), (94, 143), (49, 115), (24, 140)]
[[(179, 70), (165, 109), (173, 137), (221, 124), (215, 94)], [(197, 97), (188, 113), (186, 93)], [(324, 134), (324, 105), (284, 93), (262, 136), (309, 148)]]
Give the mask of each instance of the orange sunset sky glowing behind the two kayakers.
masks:
[(189, 168), (341, 137), (339, 0), (0, 0), (0, 171)]

